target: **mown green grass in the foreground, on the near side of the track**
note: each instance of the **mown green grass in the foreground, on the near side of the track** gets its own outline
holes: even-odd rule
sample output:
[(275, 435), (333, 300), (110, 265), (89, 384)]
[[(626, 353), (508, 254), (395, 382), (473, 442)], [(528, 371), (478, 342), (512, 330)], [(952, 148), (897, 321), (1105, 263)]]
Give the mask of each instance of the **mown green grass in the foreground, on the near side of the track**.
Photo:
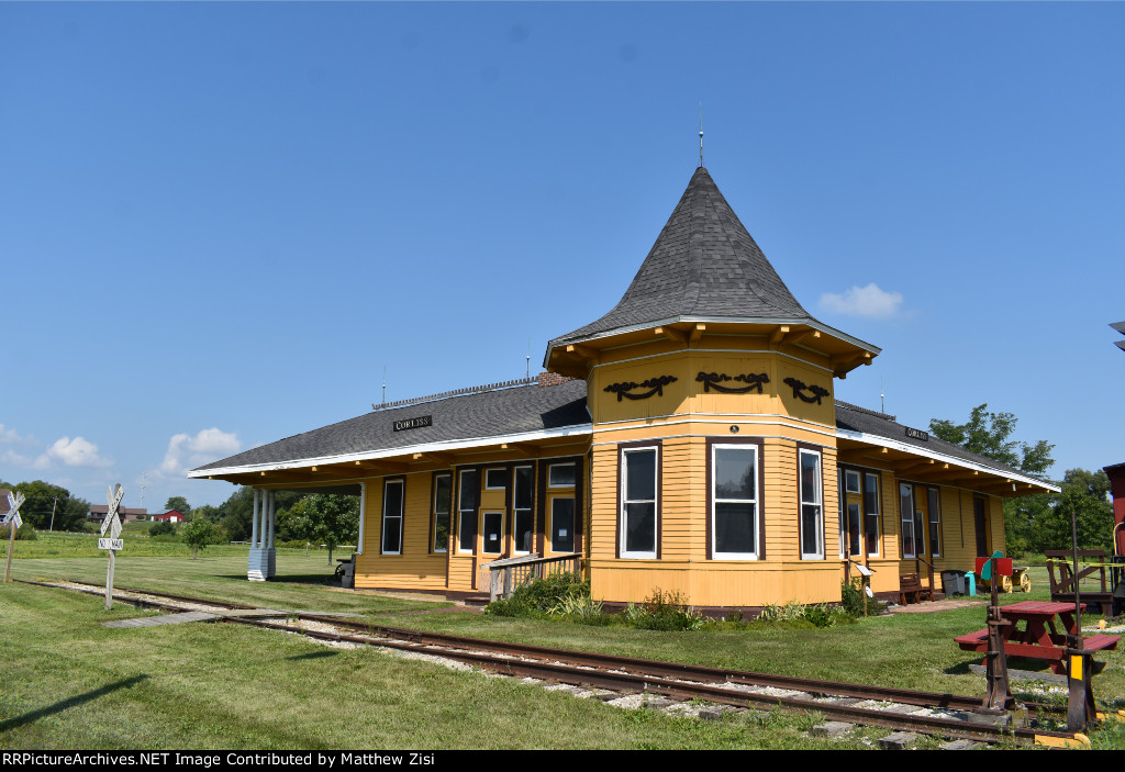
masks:
[[(786, 748), (814, 717), (622, 710), (238, 625), (108, 629), (98, 598), (0, 585), (2, 748)], [(885, 734), (885, 732), (884, 732)]]

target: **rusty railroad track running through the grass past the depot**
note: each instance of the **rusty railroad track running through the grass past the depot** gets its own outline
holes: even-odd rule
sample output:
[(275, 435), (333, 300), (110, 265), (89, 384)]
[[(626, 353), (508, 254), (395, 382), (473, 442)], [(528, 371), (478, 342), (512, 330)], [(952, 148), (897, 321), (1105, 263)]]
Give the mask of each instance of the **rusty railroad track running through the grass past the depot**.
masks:
[[(40, 587), (105, 592), (104, 585), (16, 580)], [(255, 610), (244, 603), (115, 588), (115, 599), (140, 608), (183, 611), (207, 608)], [(729, 708), (816, 712), (827, 720), (876, 726), (899, 732), (986, 743), (1062, 745), (1071, 733), (1036, 728), (1062, 708), (1025, 703), (1018, 716), (1024, 726), (989, 723), (974, 714), (981, 699), (950, 693), (821, 681), (772, 673), (706, 667), (485, 641), (441, 633), (374, 625), (339, 617), (278, 610), (273, 621), (261, 616), (224, 616), (224, 621), (295, 633), (331, 643), (384, 646), (468, 664), (482, 670), (549, 683), (604, 690), (609, 696), (655, 694), (670, 701), (703, 700)], [(309, 627), (312, 623), (314, 626)]]

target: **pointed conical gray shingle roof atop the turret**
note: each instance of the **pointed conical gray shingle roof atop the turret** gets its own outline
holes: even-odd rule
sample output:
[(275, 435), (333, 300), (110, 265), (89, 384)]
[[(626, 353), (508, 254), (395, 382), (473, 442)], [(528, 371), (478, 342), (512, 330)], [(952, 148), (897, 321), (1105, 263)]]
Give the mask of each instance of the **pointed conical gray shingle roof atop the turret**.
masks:
[(613, 310), (549, 348), (676, 317), (811, 319), (702, 166)]

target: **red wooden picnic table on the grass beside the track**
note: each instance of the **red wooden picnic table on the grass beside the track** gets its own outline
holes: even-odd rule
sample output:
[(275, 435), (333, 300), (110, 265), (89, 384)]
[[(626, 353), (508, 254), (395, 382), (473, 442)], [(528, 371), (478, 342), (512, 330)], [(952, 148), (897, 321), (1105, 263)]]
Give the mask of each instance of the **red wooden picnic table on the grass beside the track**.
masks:
[[(1082, 603), (1086, 608), (1086, 603)], [(1073, 603), (1055, 603), (1042, 600), (1025, 600), (1011, 606), (1000, 607), (1000, 615), (1010, 621), (1002, 629), (1004, 648), (1010, 656), (1026, 656), (1033, 660), (1046, 660), (1051, 670), (1064, 674), (1066, 635), (1081, 635), (1074, 618)], [(1055, 627), (1055, 620), (1062, 624), (1062, 632)], [(965, 652), (988, 652), (988, 628), (954, 638)], [(1117, 648), (1117, 635), (1091, 635), (1083, 639), (1083, 646), (1089, 652)]]

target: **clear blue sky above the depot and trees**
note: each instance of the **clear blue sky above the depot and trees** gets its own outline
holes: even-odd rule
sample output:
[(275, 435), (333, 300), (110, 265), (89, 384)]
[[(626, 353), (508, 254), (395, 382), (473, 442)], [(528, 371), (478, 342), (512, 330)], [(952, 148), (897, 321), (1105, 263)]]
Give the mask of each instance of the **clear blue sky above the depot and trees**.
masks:
[[(183, 470), (534, 373), (698, 163), (837, 397), (1125, 461), (1125, 4), (0, 3), (0, 479)], [(874, 285), (874, 287), (872, 287)], [(854, 298), (868, 314), (856, 314)], [(881, 314), (872, 316), (872, 309)]]

